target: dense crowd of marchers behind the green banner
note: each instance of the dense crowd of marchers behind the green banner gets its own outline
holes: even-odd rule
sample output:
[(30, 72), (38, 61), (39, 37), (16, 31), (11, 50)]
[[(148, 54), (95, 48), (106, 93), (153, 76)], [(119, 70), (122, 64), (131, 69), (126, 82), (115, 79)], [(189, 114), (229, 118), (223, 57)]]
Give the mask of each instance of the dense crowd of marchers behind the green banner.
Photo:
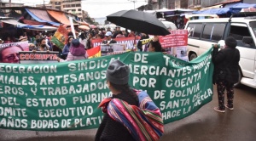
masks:
[[(59, 61), (68, 61), (68, 60), (73, 60), (73, 59), (86, 59), (88, 55), (86, 54), (86, 50), (93, 48), (93, 45), (91, 43), (91, 40), (94, 39), (101, 39), (102, 44), (112, 44), (116, 43), (116, 38), (121, 38), (121, 37), (140, 37), (141, 40), (143, 39), (148, 39), (148, 35), (145, 33), (139, 33), (136, 31), (128, 31), (127, 29), (125, 30), (120, 30), (119, 26), (116, 26), (115, 29), (111, 30), (110, 28), (105, 30), (105, 28), (95, 28), (95, 29), (90, 29), (89, 31), (76, 31), (77, 33), (77, 39), (73, 42), (74, 35), (73, 32), (68, 32), (68, 38), (67, 42), (64, 46), (63, 49), (60, 49), (56, 47), (55, 43), (51, 42), (51, 38), (53, 37), (54, 33), (53, 32), (38, 32), (37, 35), (31, 36), (27, 35), (26, 32), (24, 31), (22, 35), (19, 38), (14, 38), (7, 36), (4, 38), (4, 40), (0, 39), (0, 43), (10, 43), (10, 42), (25, 42), (28, 41), (29, 43), (29, 51), (58, 51), (59, 52)], [(151, 42), (148, 42), (146, 45), (144, 45), (141, 42), (137, 42), (137, 50), (138, 51), (148, 51), (148, 52), (165, 52), (163, 48), (161, 48), (160, 42), (159, 42), (159, 37), (154, 36), (153, 40)], [(76, 43), (76, 45), (75, 45)], [(78, 44), (79, 43), (79, 44)], [(73, 48), (79, 47), (79, 48), (84, 48), (83, 52), (84, 54), (82, 58), (80, 57), (73, 57), (78, 54), (69, 54), (71, 50), (74, 50)], [(17, 47), (20, 48), (20, 47)], [(1, 48), (0, 49), (0, 54), (4, 53), (4, 50), (6, 51), (8, 48)], [(10, 49), (10, 48), (9, 48)], [(15, 50), (14, 50), (15, 51)], [(8, 58), (9, 60), (6, 59), (0, 59), (0, 62), (2, 63), (19, 63), (19, 58), (18, 58), (18, 51), (23, 51), (23, 48), (16, 49), (15, 54), (9, 54), (12, 56)], [(81, 55), (81, 54), (79, 54)]]

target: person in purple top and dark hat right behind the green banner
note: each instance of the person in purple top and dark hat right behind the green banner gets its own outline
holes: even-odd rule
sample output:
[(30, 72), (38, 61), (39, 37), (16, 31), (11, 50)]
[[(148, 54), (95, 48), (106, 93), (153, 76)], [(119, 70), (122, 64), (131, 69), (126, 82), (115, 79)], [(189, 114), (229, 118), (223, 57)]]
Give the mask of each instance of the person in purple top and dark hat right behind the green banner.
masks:
[(86, 50), (84, 49), (84, 45), (79, 42), (79, 39), (73, 39), (71, 42), (71, 46), (69, 49), (69, 53), (67, 54), (67, 59), (58, 59), (59, 61), (72, 61), (77, 59), (87, 59), (88, 55)]

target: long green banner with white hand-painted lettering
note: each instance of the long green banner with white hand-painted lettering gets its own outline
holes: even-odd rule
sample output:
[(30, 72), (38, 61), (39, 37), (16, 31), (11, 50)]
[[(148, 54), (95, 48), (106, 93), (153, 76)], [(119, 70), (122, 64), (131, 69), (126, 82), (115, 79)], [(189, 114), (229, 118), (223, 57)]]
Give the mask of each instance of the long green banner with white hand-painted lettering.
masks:
[(97, 128), (103, 116), (97, 106), (111, 95), (106, 70), (113, 59), (130, 66), (130, 86), (147, 91), (165, 124), (212, 100), (211, 50), (191, 62), (162, 53), (130, 52), (55, 64), (0, 64), (0, 128)]

